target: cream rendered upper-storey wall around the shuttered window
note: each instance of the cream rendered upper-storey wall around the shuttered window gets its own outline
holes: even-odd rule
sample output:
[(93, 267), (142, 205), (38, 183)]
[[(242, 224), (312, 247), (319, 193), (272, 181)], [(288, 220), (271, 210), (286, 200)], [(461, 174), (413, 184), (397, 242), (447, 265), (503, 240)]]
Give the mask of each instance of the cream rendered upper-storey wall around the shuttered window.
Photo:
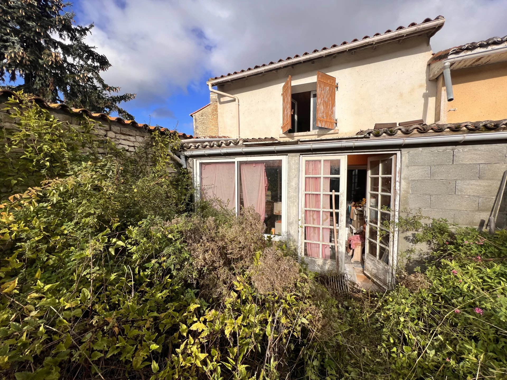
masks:
[[(427, 80), (431, 48), (426, 37), (414, 37), (377, 49), (344, 53), (276, 72), (241, 79), (219, 90), (237, 95), (241, 137), (278, 137), (281, 134), (281, 90), (292, 75), (293, 92), (314, 90), (316, 72), (338, 82), (336, 118), (339, 135), (354, 135), (375, 123), (423, 119), (434, 121), (435, 81)], [(255, 62), (253, 62), (255, 63)], [(306, 85), (306, 87), (305, 87)], [(234, 99), (219, 95), (219, 134), (236, 136)]]

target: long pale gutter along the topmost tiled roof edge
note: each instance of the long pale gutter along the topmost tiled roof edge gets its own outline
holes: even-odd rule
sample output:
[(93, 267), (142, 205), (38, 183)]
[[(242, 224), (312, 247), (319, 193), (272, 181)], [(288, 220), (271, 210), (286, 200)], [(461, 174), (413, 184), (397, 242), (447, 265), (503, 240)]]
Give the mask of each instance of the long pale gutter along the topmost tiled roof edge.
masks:
[[(229, 75), (228, 77), (210, 80), (209, 82), (207, 82), (207, 84), (209, 85), (209, 88), (211, 89), (211, 86), (216, 86), (221, 83), (234, 81), (234, 80), (240, 79), (240, 78), (250, 77), (251, 75), (261, 74), (266, 71), (276, 70), (276, 69), (279, 69), (279, 68), (282, 68), (285, 66), (291, 66), (296, 63), (301, 63), (301, 62), (312, 60), (315, 58), (320, 58), (320, 57), (324, 57), (327, 55), (347, 52), (349, 50), (364, 49), (369, 46), (380, 45), (380, 44), (385, 44), (385, 43), (392, 42), (392, 41), (402, 40), (402, 39), (411, 37), (412, 34), (420, 35), (420, 34), (423, 34), (424, 31), (426, 31), (426, 30), (441, 28), (444, 25), (444, 22), (445, 22), (445, 18), (441, 18), (438, 20), (426, 22), (424, 24), (409, 26), (405, 29), (394, 30), (392, 32), (377, 35), (375, 37), (370, 37), (365, 40), (359, 40), (356, 42), (351, 42), (346, 45), (340, 45), (340, 46), (337, 46), (336, 48), (318, 51), (318, 52), (307, 54), (307, 55), (304, 55), (301, 57), (288, 59), (283, 62), (277, 62), (277, 63), (267, 65), (264, 67), (255, 68), (253, 70), (239, 72), (237, 74)], [(227, 96), (230, 96), (230, 95), (227, 95)]]

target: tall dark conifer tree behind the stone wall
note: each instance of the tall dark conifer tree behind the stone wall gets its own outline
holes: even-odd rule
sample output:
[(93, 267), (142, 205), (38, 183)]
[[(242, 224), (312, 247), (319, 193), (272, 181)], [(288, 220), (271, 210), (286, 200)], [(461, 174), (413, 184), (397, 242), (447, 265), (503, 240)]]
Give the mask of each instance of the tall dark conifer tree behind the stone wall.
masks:
[(107, 58), (84, 41), (93, 24), (76, 25), (70, 3), (61, 0), (0, 2), (0, 82), (23, 80), (17, 89), (48, 102), (64, 102), (94, 112), (118, 112), (133, 119), (119, 103), (135, 94), (100, 77), (111, 67)]

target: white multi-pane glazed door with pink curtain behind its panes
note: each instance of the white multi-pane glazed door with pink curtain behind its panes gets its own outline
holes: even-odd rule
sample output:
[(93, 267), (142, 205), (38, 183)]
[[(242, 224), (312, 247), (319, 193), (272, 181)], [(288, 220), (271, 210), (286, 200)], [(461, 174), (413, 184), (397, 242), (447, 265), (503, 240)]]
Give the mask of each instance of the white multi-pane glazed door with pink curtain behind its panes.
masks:
[[(345, 259), (345, 202), (347, 156), (307, 156), (302, 158), (301, 242), (304, 256), (336, 260), (343, 272)], [(333, 191), (335, 214), (333, 215)], [(338, 252), (335, 251), (336, 226)]]

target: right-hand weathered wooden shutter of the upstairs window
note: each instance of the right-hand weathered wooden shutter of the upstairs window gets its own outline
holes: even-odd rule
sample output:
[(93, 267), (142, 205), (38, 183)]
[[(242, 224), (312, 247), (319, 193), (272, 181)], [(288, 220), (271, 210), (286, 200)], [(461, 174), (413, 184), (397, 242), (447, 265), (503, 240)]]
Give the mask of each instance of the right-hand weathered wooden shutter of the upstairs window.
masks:
[(317, 71), (316, 126), (335, 129), (336, 78)]

